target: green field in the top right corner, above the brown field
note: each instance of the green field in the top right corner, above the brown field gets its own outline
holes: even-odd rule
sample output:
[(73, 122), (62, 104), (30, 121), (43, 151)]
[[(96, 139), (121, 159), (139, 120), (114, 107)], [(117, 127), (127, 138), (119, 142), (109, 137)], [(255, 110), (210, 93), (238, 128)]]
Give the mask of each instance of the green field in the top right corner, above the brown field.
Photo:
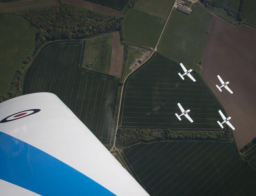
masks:
[(244, 6), (243, 21), (256, 28), (256, 1), (246, 0)]

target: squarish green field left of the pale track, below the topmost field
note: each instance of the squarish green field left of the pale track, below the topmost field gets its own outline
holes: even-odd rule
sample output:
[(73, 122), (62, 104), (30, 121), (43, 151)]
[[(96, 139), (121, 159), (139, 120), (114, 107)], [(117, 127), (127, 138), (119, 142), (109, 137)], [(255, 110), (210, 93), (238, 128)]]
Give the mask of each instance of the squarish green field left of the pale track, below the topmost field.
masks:
[(124, 19), (125, 42), (154, 48), (164, 26), (164, 19), (131, 8)]

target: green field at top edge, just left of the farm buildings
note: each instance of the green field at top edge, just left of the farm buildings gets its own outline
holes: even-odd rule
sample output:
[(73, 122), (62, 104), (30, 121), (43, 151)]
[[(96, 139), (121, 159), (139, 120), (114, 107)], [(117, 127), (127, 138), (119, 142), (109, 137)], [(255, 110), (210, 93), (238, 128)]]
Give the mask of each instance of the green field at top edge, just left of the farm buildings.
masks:
[(166, 19), (175, 0), (138, 0), (135, 9)]

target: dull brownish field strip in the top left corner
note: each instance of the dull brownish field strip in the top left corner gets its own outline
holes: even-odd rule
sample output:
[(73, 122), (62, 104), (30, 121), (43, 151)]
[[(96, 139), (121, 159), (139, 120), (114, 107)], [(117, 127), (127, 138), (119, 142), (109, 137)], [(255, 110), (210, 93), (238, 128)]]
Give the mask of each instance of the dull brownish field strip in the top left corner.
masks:
[(57, 0), (23, 0), (0, 3), (0, 13), (20, 12), (57, 5)]

